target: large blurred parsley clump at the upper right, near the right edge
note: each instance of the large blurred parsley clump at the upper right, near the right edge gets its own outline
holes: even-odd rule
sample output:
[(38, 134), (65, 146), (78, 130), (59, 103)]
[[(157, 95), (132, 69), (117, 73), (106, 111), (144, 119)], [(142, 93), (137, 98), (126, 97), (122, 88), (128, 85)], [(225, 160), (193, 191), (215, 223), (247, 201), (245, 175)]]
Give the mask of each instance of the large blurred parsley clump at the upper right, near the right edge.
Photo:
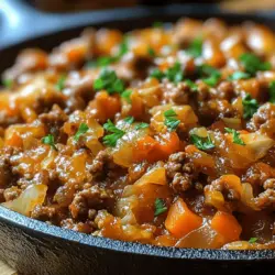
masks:
[(256, 55), (244, 53), (239, 57), (246, 73), (255, 75), (258, 70), (268, 70), (272, 65), (268, 62), (262, 62)]

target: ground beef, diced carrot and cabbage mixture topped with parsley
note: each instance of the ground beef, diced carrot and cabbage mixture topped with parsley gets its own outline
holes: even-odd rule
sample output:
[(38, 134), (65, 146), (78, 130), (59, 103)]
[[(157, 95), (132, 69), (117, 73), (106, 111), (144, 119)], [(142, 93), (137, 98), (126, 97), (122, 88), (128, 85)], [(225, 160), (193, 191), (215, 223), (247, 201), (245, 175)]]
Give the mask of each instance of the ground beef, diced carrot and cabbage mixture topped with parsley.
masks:
[(154, 245), (274, 249), (275, 35), (210, 19), (86, 30), (2, 75), (0, 202)]

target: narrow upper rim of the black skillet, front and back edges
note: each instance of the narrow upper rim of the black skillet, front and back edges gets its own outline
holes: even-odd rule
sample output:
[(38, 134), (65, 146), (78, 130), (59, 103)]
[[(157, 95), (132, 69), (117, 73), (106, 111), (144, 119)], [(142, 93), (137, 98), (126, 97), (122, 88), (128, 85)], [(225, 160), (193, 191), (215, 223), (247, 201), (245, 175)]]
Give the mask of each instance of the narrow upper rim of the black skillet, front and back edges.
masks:
[[(187, 9), (186, 10), (184, 9)], [(117, 12), (117, 18), (108, 18), (112, 14), (112, 12)], [(44, 31), (41, 33), (35, 33), (32, 36), (28, 36), (24, 40), (12, 42), (10, 44), (6, 44), (0, 48), (1, 52), (6, 52), (9, 50), (13, 50), (24, 45), (25, 43), (32, 43), (40, 37), (50, 38), (54, 34), (59, 32), (78, 30), (90, 25), (100, 26), (105, 23), (110, 23), (112, 21), (123, 21), (125, 19), (129, 20), (138, 20), (139, 18), (152, 18), (156, 14), (160, 16), (170, 16), (170, 18), (179, 18), (179, 16), (190, 16), (190, 18), (210, 18), (218, 16), (227, 20), (233, 19), (237, 21), (273, 21), (275, 24), (275, 20), (272, 19), (273, 14), (271, 13), (260, 13), (260, 14), (233, 14), (230, 12), (223, 12), (217, 9), (216, 6), (211, 6), (210, 11), (207, 12), (201, 9), (201, 6), (197, 4), (172, 4), (168, 7), (162, 8), (151, 8), (150, 12), (144, 12), (143, 8), (127, 8), (127, 9), (114, 9), (100, 11), (101, 14), (105, 14), (103, 19), (98, 18), (97, 20), (88, 20), (86, 23), (81, 20), (77, 20), (74, 24), (65, 25), (65, 28), (59, 28), (55, 31)], [(168, 11), (165, 14), (165, 11)], [(183, 13), (180, 13), (180, 11)], [(87, 16), (92, 14), (91, 12), (86, 13)], [(79, 14), (81, 16), (81, 13)], [(119, 15), (119, 20), (118, 20)], [(153, 20), (152, 20), (153, 21)], [(15, 57), (15, 56), (14, 56)], [(251, 262), (251, 261), (263, 261), (271, 262), (275, 261), (275, 250), (209, 250), (209, 249), (180, 249), (180, 248), (167, 248), (167, 246), (155, 246), (150, 244), (142, 244), (138, 242), (125, 242), (119, 240), (111, 240), (108, 238), (101, 237), (92, 237), (89, 234), (76, 232), (68, 229), (63, 229), (56, 226), (50, 226), (46, 222), (42, 222), (38, 220), (31, 219), (18, 212), (14, 212), (10, 209), (7, 209), (0, 206), (0, 221), (3, 223), (10, 224), (20, 230), (28, 231), (28, 233), (37, 234), (35, 238), (50, 237), (55, 238), (57, 240), (63, 240), (67, 242), (79, 243), (79, 246), (88, 246), (96, 248), (102, 250), (117, 251), (121, 253), (132, 253), (136, 255), (146, 255), (146, 256), (156, 256), (156, 257), (166, 257), (166, 258), (175, 258), (175, 260), (187, 260), (187, 261), (210, 261), (210, 262)], [(0, 229), (1, 230), (1, 229)]]

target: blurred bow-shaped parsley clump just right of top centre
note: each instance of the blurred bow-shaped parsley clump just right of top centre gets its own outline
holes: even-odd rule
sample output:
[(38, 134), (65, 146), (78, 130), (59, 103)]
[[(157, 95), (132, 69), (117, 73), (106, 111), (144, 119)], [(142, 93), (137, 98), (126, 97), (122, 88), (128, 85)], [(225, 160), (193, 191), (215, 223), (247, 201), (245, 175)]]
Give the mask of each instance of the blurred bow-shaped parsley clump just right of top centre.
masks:
[(151, 74), (151, 77), (154, 77), (158, 80), (163, 78), (168, 78), (172, 82), (180, 82), (184, 79), (184, 72), (179, 62), (176, 62), (172, 67), (165, 72), (160, 70), (158, 68), (154, 69)]

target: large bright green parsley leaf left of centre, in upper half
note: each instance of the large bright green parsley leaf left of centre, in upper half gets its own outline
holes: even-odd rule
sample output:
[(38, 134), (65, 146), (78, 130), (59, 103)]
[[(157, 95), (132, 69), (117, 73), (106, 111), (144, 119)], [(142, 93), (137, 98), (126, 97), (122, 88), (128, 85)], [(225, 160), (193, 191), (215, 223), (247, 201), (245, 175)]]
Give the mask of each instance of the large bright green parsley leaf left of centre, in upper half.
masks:
[(124, 90), (124, 82), (118, 78), (117, 74), (110, 69), (102, 69), (99, 77), (94, 82), (95, 90), (106, 89), (109, 95), (121, 94)]

